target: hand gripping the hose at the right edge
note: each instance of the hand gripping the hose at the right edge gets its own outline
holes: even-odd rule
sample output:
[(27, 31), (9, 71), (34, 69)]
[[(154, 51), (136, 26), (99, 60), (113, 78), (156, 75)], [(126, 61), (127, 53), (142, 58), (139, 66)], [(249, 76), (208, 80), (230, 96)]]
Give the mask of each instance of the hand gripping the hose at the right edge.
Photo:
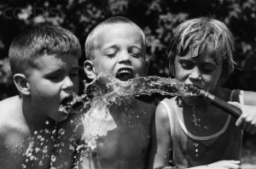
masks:
[(256, 93), (245, 91), (243, 93), (243, 104), (229, 102), (242, 110), (241, 116), (236, 121), (236, 126), (250, 134), (256, 133)]

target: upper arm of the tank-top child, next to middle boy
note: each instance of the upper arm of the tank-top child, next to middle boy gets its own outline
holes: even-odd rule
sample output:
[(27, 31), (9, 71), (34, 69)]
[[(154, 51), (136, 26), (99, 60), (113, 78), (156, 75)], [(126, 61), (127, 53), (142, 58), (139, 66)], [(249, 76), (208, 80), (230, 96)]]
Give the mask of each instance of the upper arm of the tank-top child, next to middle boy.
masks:
[(166, 108), (159, 104), (155, 110), (151, 125), (151, 143), (148, 157), (148, 168), (169, 166), (171, 154), (171, 129)]

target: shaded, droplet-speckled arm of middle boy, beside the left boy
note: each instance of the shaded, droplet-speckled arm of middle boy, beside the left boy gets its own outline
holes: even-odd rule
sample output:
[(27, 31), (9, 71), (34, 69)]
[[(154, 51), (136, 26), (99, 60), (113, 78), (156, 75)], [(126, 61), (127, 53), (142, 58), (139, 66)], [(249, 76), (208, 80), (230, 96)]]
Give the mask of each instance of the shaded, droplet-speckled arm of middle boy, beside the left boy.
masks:
[(73, 115), (67, 121), (61, 123), (57, 128), (54, 160), (51, 169), (71, 169), (73, 157), (79, 140), (81, 125), (75, 121)]

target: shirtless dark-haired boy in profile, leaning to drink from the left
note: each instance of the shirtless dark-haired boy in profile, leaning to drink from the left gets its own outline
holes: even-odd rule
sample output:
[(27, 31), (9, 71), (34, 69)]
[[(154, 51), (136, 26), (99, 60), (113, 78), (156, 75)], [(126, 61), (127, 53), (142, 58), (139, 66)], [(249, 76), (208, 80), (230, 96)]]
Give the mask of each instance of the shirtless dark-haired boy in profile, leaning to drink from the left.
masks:
[(20, 95), (0, 102), (1, 168), (49, 168), (61, 99), (79, 90), (81, 48), (70, 31), (36, 26), (15, 37), (9, 61)]

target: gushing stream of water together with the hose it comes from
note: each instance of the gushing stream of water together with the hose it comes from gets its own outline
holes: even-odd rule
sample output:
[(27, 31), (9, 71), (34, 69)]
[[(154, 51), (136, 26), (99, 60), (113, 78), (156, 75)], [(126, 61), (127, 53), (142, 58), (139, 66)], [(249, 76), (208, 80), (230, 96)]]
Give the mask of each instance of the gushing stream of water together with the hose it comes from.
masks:
[(84, 84), (84, 94), (82, 96), (74, 93), (68, 95), (67, 98), (61, 100), (60, 110), (73, 111), (78, 108), (81, 110), (87, 105), (99, 105), (101, 102), (102, 104), (110, 102), (119, 104), (122, 100), (134, 99), (137, 96), (150, 95), (152, 93), (170, 96), (183, 96), (183, 93), (186, 93), (213, 104), (236, 118), (241, 115), (240, 109), (228, 104), (223, 99), (219, 99), (212, 93), (194, 85), (166, 77), (143, 76), (122, 82), (109, 74), (100, 74), (93, 82)]

